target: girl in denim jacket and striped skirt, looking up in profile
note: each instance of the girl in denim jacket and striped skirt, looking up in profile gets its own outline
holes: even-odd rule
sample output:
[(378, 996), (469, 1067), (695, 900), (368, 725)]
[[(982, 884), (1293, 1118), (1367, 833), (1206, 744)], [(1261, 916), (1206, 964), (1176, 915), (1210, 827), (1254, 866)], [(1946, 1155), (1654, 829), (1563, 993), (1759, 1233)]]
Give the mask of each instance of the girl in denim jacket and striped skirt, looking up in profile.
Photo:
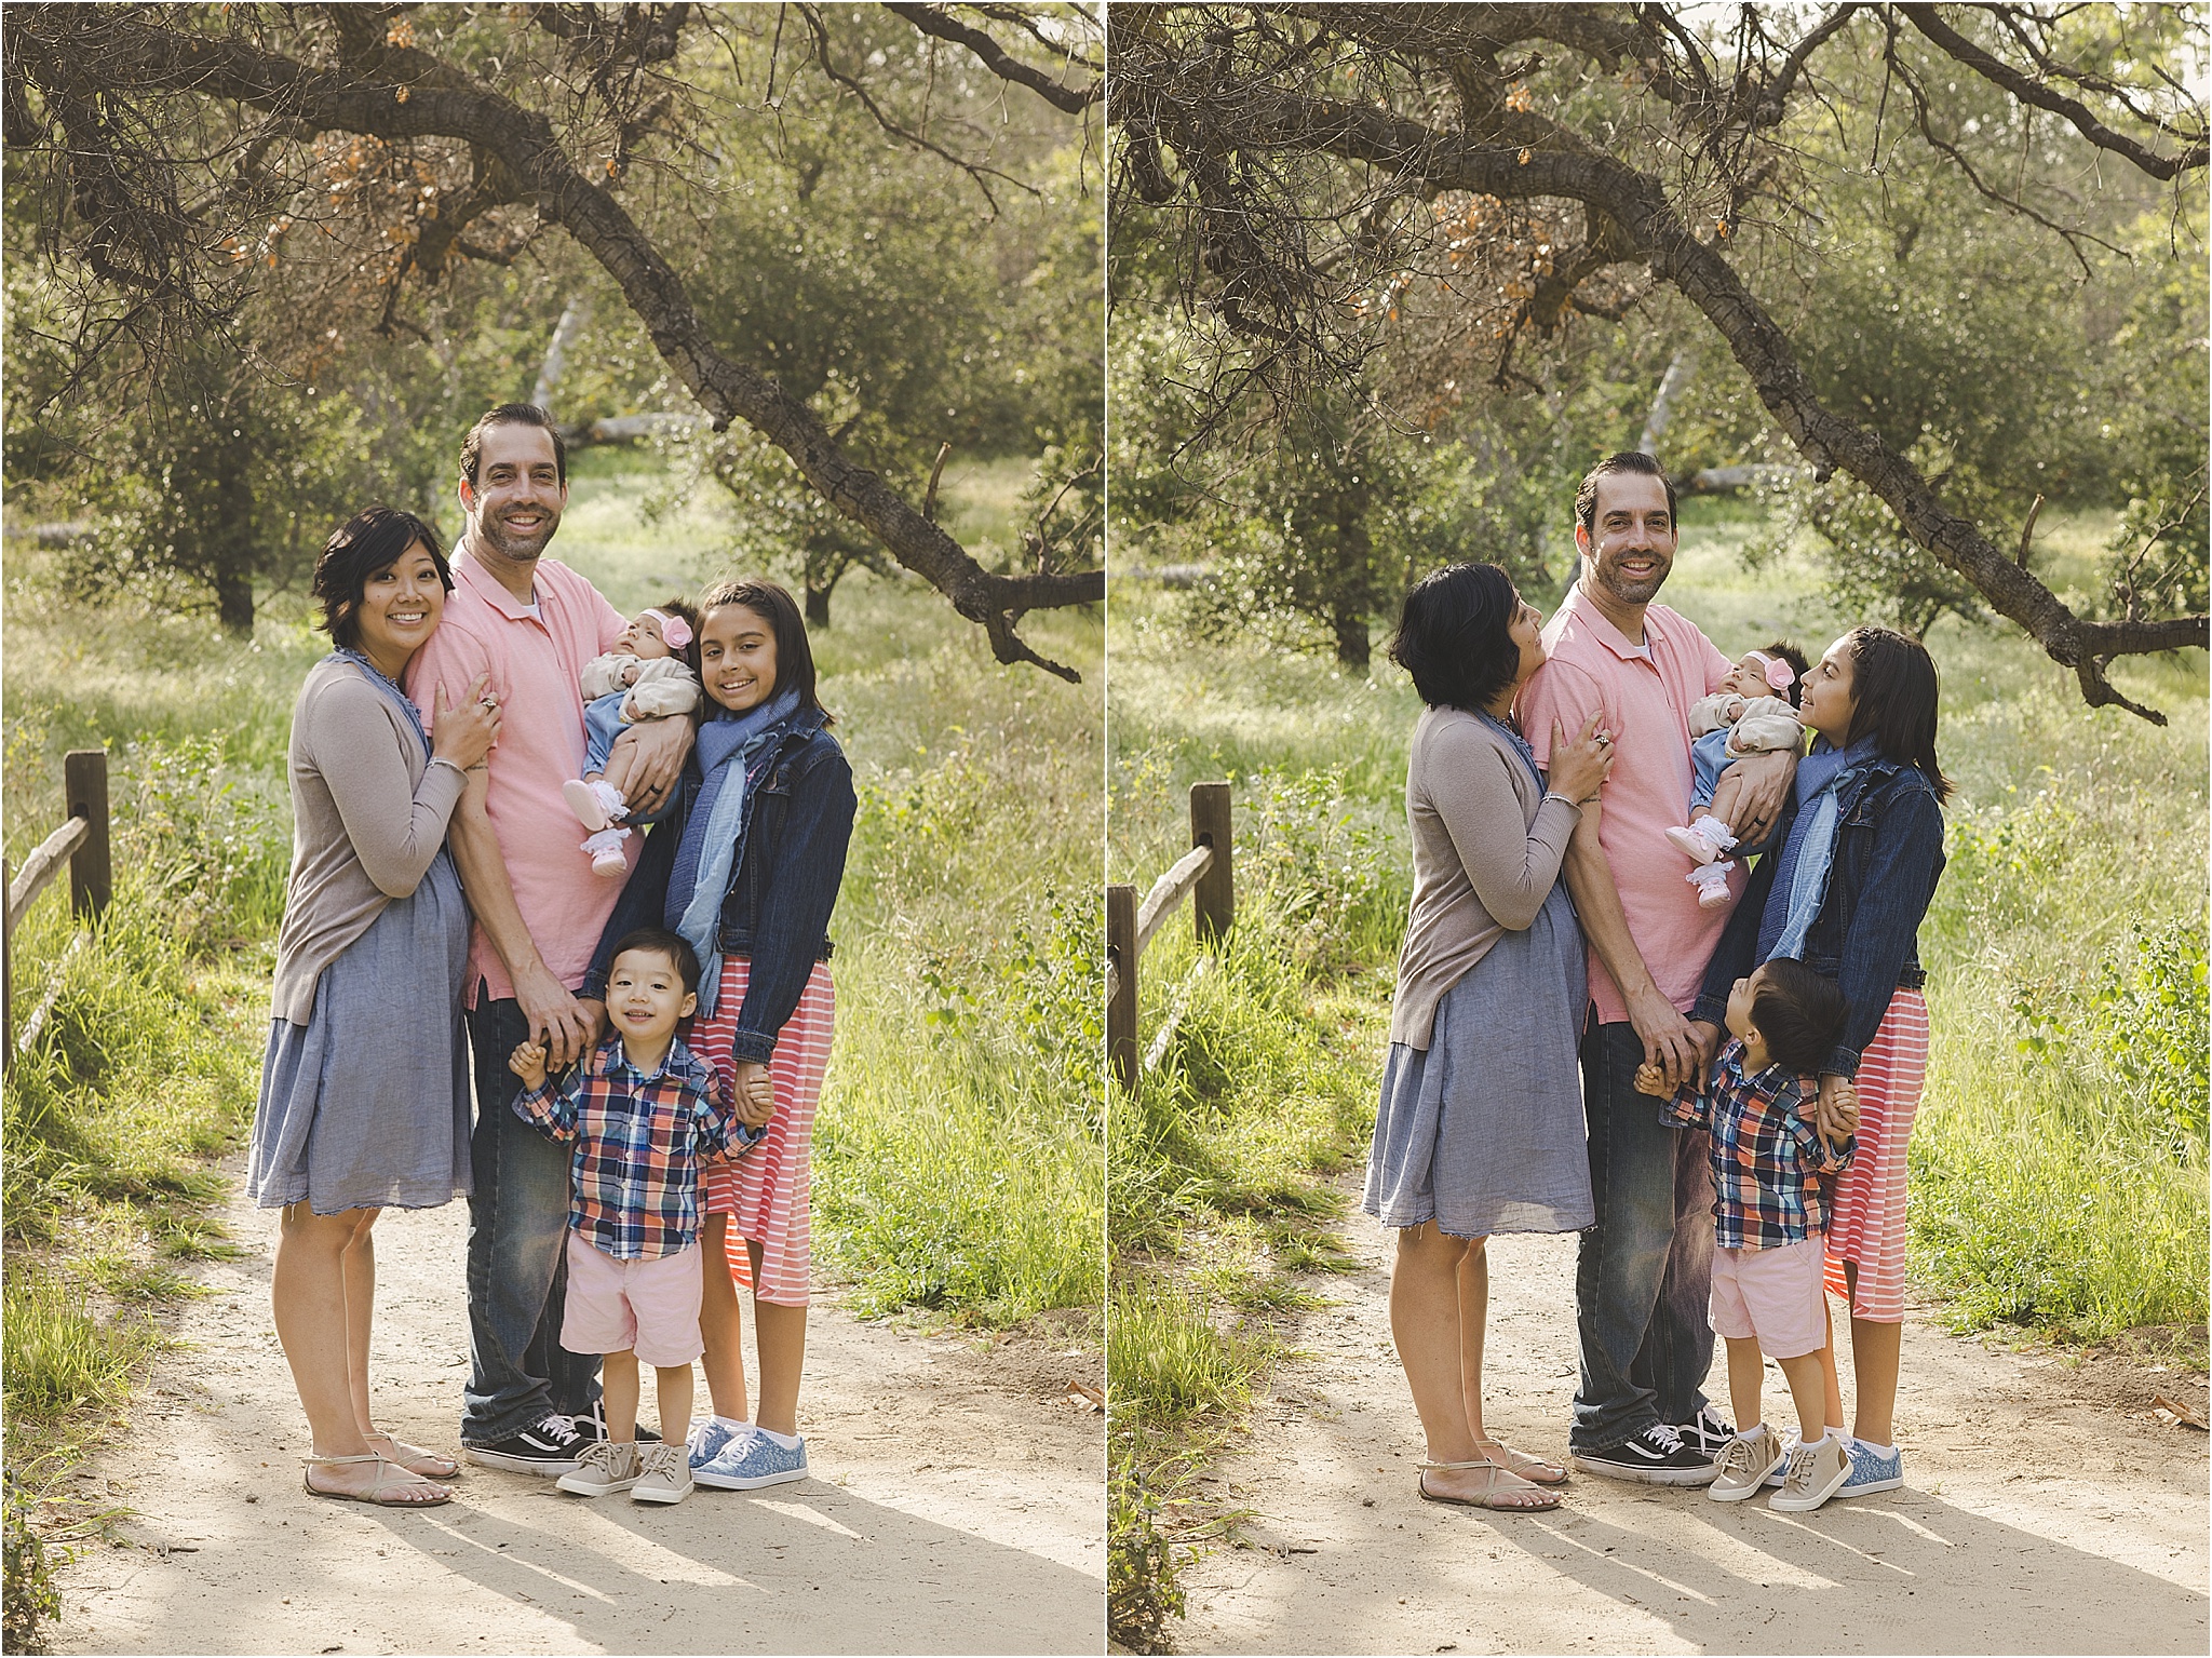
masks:
[[(1847, 1127), (1858, 1096), (1858, 1158), (1836, 1187), (1827, 1289), (1851, 1304), (1856, 1419), (1838, 1497), (1905, 1483), (1896, 1448), (1898, 1337), (1905, 1322), (1905, 1143), (1927, 1077), (1929, 1010), (1916, 935), (1942, 875), (1936, 663), (1920, 641), (1854, 628), (1805, 679), (1816, 734), (1798, 765), (1781, 851), (1761, 860), (1705, 970), (1690, 1019), (1719, 1041), (1730, 986), (1761, 962), (1796, 957), (1836, 979), (1849, 1004), (1820, 1068), (1820, 1116)], [(1827, 1419), (1843, 1426), (1834, 1342)]]

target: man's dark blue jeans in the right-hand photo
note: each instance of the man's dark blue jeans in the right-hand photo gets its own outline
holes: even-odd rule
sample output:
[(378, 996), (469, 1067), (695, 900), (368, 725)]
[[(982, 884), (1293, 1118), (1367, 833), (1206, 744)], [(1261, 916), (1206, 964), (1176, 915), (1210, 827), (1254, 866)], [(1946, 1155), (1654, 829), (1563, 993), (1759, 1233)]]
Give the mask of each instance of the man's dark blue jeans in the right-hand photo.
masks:
[(1575, 1450), (1610, 1450), (1655, 1421), (1705, 1406), (1712, 1368), (1712, 1169), (1705, 1132), (1668, 1127), (1639, 1094), (1644, 1041), (1630, 1024), (1582, 1035), (1582, 1105), (1590, 1127), (1597, 1225), (1575, 1262), (1582, 1386)]

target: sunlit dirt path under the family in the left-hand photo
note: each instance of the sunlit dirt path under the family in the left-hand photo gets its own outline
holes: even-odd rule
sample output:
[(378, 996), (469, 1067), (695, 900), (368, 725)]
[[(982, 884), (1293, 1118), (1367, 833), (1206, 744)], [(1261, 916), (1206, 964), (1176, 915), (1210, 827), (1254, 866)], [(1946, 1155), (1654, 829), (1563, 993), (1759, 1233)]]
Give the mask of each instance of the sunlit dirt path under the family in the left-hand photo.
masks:
[[(305, 1426), (268, 1315), (272, 1216), (175, 1315), (190, 1342), (84, 1472), (137, 1517), (62, 1576), (58, 1651), (1066, 1651), (1104, 1645), (1104, 1444), (1071, 1340), (962, 1342), (818, 1298), (816, 1477), (653, 1510), (469, 1468), (427, 1512), (301, 1492)], [(378, 1419), (456, 1448), (467, 1205), (378, 1222)], [(650, 1393), (650, 1388), (648, 1388)], [(703, 1393), (701, 1393), (703, 1397)], [(648, 1406), (650, 1408), (650, 1406)]]

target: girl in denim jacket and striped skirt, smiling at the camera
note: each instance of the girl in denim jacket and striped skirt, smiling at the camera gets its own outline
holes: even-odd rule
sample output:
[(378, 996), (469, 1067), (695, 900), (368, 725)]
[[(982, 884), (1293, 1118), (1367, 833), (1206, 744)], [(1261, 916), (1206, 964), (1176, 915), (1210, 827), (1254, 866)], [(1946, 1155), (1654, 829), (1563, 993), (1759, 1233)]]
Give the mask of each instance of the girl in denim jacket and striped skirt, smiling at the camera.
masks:
[[(852, 765), (814, 692), (792, 595), (723, 581), (699, 599), (690, 665), (706, 718), (681, 800), (646, 838), (599, 942), (666, 926), (699, 953), (686, 1046), (745, 1099), (774, 1092), (768, 1134), (701, 1180), (701, 1368), (714, 1415), (692, 1430), (692, 1479), (752, 1490), (807, 1477), (799, 1371), (807, 1351), (810, 1152), (830, 1061), (830, 911), (852, 840)], [(584, 982), (597, 995), (604, 962)], [(750, 1269), (759, 1413), (745, 1408), (737, 1273)]]

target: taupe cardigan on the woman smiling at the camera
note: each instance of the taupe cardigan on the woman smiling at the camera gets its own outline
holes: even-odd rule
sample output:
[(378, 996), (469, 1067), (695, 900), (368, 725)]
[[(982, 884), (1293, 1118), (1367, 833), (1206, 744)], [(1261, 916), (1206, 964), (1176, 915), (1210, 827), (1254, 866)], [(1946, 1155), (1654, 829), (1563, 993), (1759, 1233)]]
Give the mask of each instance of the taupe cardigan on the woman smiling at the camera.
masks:
[(407, 716), (343, 659), (307, 670), (285, 760), (292, 878), (272, 1012), (303, 1026), (323, 968), (429, 871), (467, 778), (429, 765)]

